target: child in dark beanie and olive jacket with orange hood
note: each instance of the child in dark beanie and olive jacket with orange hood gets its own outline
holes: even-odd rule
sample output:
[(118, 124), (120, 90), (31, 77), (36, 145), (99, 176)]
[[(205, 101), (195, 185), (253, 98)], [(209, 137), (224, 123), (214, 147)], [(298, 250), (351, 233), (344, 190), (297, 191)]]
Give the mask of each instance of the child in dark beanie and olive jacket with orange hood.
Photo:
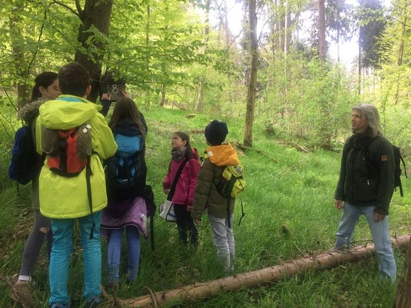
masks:
[(191, 217), (199, 223), (204, 209), (208, 209), (208, 221), (217, 256), (226, 270), (233, 270), (235, 242), (232, 225), (235, 199), (230, 200), (227, 210), (227, 198), (221, 196), (216, 189), (216, 183), (219, 183), (225, 166), (240, 164), (232, 145), (223, 144), (227, 133), (227, 124), (219, 120), (213, 120), (206, 127), (205, 136), (210, 147), (206, 149), (206, 157), (201, 164)]

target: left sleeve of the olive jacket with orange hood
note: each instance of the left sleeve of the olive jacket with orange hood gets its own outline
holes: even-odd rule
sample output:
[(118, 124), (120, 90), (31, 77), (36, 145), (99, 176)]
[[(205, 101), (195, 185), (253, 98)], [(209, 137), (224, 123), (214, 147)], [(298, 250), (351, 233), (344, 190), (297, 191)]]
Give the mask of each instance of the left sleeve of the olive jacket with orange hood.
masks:
[(200, 168), (197, 186), (195, 188), (194, 201), (192, 202), (191, 217), (199, 219), (206, 209), (208, 196), (214, 180), (214, 169), (210, 159), (204, 159), (203, 165)]

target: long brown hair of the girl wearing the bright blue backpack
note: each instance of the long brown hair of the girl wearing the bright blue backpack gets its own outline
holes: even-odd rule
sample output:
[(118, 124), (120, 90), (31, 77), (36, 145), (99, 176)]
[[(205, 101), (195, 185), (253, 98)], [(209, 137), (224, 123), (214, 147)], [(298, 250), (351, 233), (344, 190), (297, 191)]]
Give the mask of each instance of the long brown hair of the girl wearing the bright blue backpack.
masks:
[(138, 129), (140, 129), (142, 138), (145, 139), (146, 131), (145, 127), (142, 125), (140, 112), (137, 109), (136, 103), (128, 97), (121, 97), (121, 99), (116, 102), (113, 115), (108, 123), (110, 129), (113, 130), (114, 127), (119, 124), (120, 120), (132, 120), (132, 122), (136, 123)]

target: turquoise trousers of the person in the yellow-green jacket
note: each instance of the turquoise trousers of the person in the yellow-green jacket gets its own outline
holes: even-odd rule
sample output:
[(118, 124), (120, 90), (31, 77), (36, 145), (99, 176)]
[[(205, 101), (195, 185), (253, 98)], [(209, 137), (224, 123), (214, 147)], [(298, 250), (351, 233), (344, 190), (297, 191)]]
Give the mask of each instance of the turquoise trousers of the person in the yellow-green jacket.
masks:
[[(90, 240), (92, 227), (91, 216), (77, 218), (80, 224), (81, 242), (84, 259), (84, 291), (86, 300), (95, 300), (100, 294), (101, 283), (101, 246), (100, 221), (101, 211), (92, 214), (95, 222), (93, 238)], [(69, 303), (67, 280), (69, 279), (69, 259), (73, 251), (73, 227), (75, 219), (51, 219), (53, 246), (51, 248), (49, 283), (49, 305)]]

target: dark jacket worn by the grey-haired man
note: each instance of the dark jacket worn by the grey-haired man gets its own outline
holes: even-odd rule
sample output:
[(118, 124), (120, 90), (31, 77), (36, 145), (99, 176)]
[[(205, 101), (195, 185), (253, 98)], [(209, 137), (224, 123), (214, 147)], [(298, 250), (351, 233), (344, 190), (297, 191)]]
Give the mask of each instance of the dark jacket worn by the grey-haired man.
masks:
[(381, 134), (371, 138), (356, 133), (345, 142), (334, 198), (355, 206), (375, 205), (375, 213), (388, 215), (394, 176), (395, 161), (390, 142)]

